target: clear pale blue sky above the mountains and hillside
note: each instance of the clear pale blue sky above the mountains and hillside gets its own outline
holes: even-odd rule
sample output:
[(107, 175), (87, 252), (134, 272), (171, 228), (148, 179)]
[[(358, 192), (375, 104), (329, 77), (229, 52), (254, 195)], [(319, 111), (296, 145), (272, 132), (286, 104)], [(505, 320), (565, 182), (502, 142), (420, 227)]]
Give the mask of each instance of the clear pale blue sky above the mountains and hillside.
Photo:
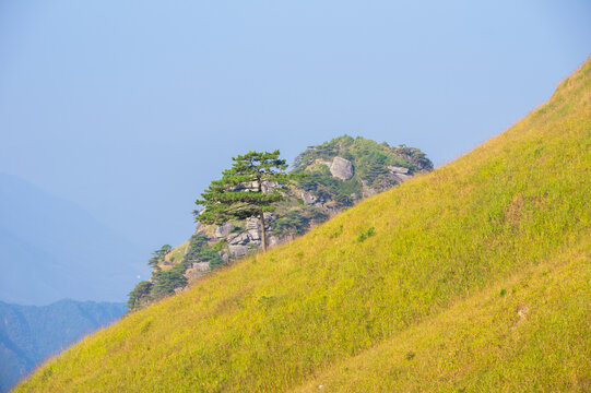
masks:
[(346, 133), (441, 166), (589, 55), (584, 0), (0, 0), (0, 172), (147, 259), (237, 154)]

